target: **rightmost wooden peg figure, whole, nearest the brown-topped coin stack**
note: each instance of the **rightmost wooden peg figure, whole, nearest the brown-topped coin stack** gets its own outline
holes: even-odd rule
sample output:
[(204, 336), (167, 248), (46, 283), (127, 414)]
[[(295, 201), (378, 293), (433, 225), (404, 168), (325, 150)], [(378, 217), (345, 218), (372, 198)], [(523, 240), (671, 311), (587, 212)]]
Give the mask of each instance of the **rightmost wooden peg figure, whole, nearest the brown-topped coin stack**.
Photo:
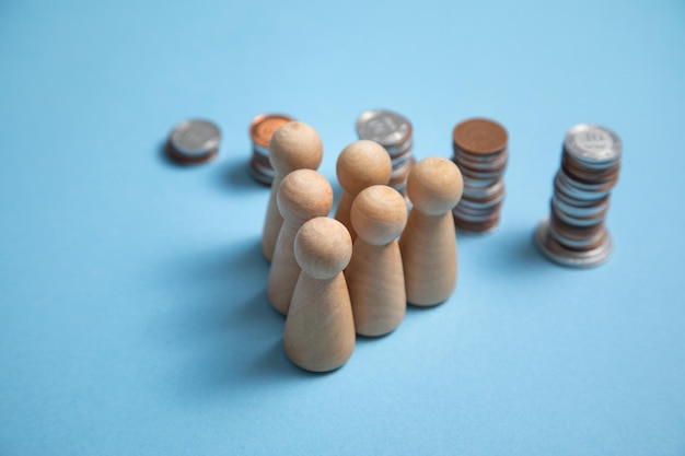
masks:
[(421, 160), (409, 173), (407, 196), (414, 208), (399, 249), (411, 304), (440, 304), (454, 291), (457, 267), (452, 208), (463, 189), (462, 173), (446, 159)]

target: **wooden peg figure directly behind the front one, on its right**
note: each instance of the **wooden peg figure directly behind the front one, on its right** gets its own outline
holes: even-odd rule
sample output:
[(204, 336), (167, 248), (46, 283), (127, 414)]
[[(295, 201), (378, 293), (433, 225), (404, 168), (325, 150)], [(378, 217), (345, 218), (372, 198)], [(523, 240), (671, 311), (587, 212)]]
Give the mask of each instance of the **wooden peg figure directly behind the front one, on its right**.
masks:
[(374, 185), (355, 198), (351, 219), (358, 236), (345, 278), (355, 329), (362, 336), (382, 336), (402, 323), (407, 307), (397, 243), (407, 223), (407, 202), (394, 188)]

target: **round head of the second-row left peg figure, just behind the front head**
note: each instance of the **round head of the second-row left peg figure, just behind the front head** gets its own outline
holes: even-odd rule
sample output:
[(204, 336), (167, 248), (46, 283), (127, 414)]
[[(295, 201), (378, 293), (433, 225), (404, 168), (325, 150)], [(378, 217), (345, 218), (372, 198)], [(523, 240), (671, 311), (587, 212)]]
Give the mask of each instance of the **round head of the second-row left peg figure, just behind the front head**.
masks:
[(299, 229), (310, 219), (328, 215), (333, 207), (333, 188), (320, 173), (295, 169), (278, 187), (276, 203), (286, 223)]

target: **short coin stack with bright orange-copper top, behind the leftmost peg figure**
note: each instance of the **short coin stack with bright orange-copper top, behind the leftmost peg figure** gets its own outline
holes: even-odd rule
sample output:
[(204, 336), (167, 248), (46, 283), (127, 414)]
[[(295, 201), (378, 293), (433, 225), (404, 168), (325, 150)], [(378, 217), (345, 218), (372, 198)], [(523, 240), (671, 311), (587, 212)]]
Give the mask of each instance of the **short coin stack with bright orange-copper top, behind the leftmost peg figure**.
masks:
[(252, 139), (252, 159), (249, 160), (249, 174), (259, 184), (267, 187), (274, 182), (274, 168), (269, 162), (269, 142), (271, 136), (283, 124), (294, 119), (283, 114), (260, 114), (249, 124), (249, 138)]

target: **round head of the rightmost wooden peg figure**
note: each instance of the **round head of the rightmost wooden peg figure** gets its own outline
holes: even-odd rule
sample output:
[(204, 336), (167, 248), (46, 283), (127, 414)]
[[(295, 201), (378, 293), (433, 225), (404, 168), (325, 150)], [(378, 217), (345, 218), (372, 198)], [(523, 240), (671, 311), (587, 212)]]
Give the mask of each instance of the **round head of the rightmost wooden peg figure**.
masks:
[(407, 196), (415, 209), (440, 215), (462, 198), (464, 180), (458, 167), (448, 159), (430, 156), (414, 165), (407, 178)]

